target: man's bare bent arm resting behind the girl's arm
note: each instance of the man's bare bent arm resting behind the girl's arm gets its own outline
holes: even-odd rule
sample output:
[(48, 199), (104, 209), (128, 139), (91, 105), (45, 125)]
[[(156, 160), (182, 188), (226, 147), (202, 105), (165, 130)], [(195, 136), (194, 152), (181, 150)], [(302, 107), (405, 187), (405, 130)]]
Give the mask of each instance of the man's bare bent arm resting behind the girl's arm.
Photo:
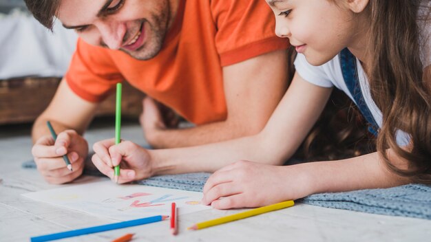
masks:
[(147, 126), (147, 141), (154, 148), (175, 148), (258, 133), (286, 92), (287, 65), (286, 50), (279, 50), (223, 67), (226, 120), (189, 129)]

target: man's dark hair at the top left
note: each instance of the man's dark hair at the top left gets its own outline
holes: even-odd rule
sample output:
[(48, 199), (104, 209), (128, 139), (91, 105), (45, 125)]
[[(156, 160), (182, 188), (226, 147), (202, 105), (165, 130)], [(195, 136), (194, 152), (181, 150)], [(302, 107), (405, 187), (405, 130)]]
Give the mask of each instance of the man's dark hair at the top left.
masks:
[(28, 10), (43, 26), (52, 30), (60, 0), (24, 0)]

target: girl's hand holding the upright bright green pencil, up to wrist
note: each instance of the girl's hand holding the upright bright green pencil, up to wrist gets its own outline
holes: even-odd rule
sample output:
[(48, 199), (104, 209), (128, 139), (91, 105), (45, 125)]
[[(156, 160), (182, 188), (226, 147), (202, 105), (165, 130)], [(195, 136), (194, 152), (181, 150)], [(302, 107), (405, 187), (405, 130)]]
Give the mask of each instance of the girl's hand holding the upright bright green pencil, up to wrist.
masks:
[(96, 142), (92, 162), (107, 177), (114, 180), (114, 166), (120, 164), (118, 183), (141, 180), (153, 175), (149, 152), (130, 141), (115, 144), (114, 139)]

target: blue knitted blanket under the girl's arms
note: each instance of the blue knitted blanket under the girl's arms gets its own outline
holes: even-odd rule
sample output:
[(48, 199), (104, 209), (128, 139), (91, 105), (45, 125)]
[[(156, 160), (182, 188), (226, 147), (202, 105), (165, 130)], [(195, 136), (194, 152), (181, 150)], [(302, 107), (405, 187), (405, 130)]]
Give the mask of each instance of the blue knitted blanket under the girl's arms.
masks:
[[(35, 168), (33, 161), (25, 168)], [(85, 169), (87, 175), (101, 175), (98, 170)], [(201, 192), (209, 173), (188, 173), (151, 177), (135, 184), (159, 186)], [(326, 208), (402, 217), (431, 219), (431, 186), (408, 184), (394, 188), (355, 190), (351, 192), (320, 193), (299, 199), (299, 202)]]

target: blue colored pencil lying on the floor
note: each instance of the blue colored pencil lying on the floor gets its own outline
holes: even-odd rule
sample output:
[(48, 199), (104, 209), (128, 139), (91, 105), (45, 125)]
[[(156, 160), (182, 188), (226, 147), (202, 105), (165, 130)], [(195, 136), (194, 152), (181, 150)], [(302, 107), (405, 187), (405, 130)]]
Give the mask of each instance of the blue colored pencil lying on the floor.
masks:
[(103, 232), (107, 230), (116, 230), (119, 228), (127, 228), (127, 227), (136, 226), (136, 225), (143, 225), (146, 223), (154, 223), (154, 222), (165, 220), (168, 217), (169, 216), (158, 215), (158, 216), (147, 217), (143, 219), (135, 219), (130, 221), (118, 222), (118, 223), (109, 223), (109, 224), (94, 226), (90, 228), (81, 228), (79, 230), (70, 230), (65, 232), (59, 232), (56, 234), (46, 234), (42, 236), (31, 237), (30, 241), (32, 242), (52, 241), (55, 239), (64, 239), (64, 238), (79, 236), (83, 234), (92, 234), (92, 233)]

